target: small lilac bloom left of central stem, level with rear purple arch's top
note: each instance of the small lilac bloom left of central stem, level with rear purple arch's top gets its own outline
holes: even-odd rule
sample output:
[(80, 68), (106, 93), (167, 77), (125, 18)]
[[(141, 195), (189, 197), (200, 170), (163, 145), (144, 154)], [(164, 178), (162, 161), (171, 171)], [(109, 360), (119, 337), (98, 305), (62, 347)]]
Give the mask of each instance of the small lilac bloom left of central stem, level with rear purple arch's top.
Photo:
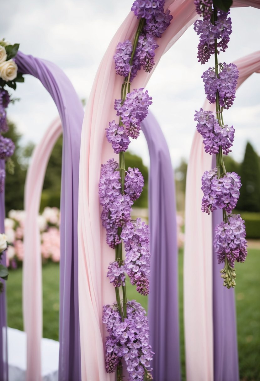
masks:
[(112, 144), (115, 154), (119, 154), (122, 151), (125, 152), (130, 144), (130, 139), (125, 132), (124, 126), (119, 126), (114, 120), (109, 122), (109, 127), (106, 128), (106, 137), (109, 143)]

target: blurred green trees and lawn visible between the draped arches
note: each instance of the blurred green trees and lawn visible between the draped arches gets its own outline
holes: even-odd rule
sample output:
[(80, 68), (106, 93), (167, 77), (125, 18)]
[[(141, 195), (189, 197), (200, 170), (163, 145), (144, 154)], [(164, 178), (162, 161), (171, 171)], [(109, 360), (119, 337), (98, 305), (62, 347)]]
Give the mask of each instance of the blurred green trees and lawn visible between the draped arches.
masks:
[[(34, 144), (25, 147), (19, 145), (19, 135), (16, 126), (10, 123), (6, 136), (12, 138), (17, 150), (13, 155), (14, 174), (6, 174), (6, 215), (11, 209), (23, 209), (23, 191), (26, 170)], [(47, 207), (59, 208), (61, 182), (61, 152), (62, 137), (59, 138), (50, 157), (43, 185), (41, 211)], [(127, 153), (126, 166), (138, 166), (144, 176), (144, 191), (136, 201), (136, 207), (147, 212), (148, 206), (148, 168), (142, 159)], [(226, 170), (235, 171), (241, 176), (243, 184), (237, 211), (246, 221), (247, 239), (249, 239), (249, 254), (244, 264), (236, 265), (236, 309), (238, 324), (238, 346), (240, 378), (244, 381), (260, 380), (260, 158), (252, 144), (245, 146), (244, 160), (238, 163), (229, 156), (225, 160)], [(180, 215), (184, 211), (185, 181), (187, 163), (182, 160), (175, 169), (177, 210)], [(145, 213), (145, 212), (144, 212)], [(184, 227), (183, 227), (184, 229)], [(8, 326), (23, 330), (22, 323), (22, 263), (18, 261), (18, 269), (11, 269), (7, 282), (8, 294)], [(243, 270), (242, 270), (243, 267)], [(130, 299), (136, 299), (147, 307), (147, 298), (136, 293), (134, 287), (128, 284)], [(183, 249), (179, 253), (179, 295), (180, 295), (180, 335), (182, 375), (185, 379), (185, 356), (183, 336)], [(59, 322), (59, 264), (46, 261), (43, 265), (43, 336), (58, 340)]]

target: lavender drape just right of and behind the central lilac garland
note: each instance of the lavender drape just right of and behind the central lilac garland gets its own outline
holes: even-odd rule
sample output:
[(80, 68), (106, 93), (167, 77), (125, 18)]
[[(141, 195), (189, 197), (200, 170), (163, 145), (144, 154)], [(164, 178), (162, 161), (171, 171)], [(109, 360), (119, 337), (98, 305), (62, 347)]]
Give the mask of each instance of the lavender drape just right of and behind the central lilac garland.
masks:
[(178, 248), (173, 169), (167, 142), (151, 112), (141, 128), (150, 154), (151, 276), (148, 320), (150, 342), (155, 352), (153, 377), (160, 381), (178, 381), (181, 378)]

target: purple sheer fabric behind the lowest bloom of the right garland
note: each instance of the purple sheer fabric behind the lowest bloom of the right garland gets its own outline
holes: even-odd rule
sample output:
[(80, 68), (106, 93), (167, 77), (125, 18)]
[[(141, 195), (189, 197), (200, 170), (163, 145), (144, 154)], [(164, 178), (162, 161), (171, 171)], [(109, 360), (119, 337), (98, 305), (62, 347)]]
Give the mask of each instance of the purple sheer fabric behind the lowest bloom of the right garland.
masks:
[[(222, 221), (222, 211), (212, 215), (213, 237), (215, 226)], [(217, 253), (213, 247), (213, 334), (214, 381), (239, 381), (238, 343), (236, 336), (236, 307), (234, 289), (223, 287)]]

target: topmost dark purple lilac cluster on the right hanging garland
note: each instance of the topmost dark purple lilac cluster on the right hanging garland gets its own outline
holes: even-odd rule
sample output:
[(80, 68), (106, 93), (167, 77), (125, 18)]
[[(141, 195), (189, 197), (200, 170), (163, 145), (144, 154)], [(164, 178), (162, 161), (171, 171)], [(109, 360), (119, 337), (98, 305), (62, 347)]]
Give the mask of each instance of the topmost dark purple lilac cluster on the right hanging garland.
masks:
[[(204, 3), (204, 5), (206, 3), (203, 12), (201, 10), (202, 3)], [(212, 24), (212, 1), (200, 1), (199, 6), (198, 1), (196, 0), (195, 5), (196, 10), (199, 10), (198, 13), (203, 15), (203, 20), (196, 20), (194, 22), (194, 30), (200, 36), (197, 58), (201, 64), (205, 64), (209, 61), (210, 56), (215, 53), (215, 40), (217, 40), (217, 47), (220, 48), (221, 51), (227, 49), (230, 34), (232, 33), (231, 18), (228, 18), (229, 12), (226, 13), (218, 10), (217, 20), (215, 21), (215, 24)]]

